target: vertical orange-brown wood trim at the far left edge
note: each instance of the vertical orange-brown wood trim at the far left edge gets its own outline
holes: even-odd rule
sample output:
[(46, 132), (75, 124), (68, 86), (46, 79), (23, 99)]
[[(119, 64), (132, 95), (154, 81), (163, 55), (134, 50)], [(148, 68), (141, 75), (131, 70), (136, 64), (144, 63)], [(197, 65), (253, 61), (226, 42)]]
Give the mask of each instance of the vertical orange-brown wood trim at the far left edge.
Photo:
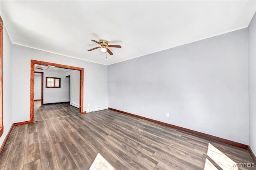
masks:
[(3, 109), (3, 20), (0, 16), (0, 137), (4, 133)]

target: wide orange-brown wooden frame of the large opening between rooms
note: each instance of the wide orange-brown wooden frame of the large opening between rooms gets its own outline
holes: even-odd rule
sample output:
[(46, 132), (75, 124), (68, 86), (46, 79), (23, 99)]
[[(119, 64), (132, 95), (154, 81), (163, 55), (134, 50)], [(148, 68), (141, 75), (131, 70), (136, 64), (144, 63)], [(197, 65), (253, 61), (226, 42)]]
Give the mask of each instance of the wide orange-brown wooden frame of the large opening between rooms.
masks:
[(35, 64), (40, 65), (51, 65), (55, 67), (60, 68), (66, 68), (66, 69), (73, 69), (80, 71), (80, 94), (79, 94), (79, 105), (80, 109), (79, 112), (81, 114), (86, 113), (84, 111), (84, 68), (80, 67), (73, 67), (70, 65), (62, 65), (62, 64), (56, 64), (56, 63), (49, 63), (45, 61), (37, 61), (37, 60), (31, 60), (30, 64), (30, 121), (29, 123), (34, 122), (34, 72), (35, 72)]

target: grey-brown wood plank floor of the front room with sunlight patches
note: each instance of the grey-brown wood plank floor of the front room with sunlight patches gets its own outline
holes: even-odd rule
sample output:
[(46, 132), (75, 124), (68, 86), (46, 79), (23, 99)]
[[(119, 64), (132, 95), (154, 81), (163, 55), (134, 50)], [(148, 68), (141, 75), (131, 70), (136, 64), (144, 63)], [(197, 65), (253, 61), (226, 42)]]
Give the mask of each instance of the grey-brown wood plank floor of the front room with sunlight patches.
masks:
[(16, 126), (0, 155), (0, 170), (88, 170), (92, 163), (118, 170), (256, 169), (233, 168), (253, 163), (247, 150), (111, 110)]

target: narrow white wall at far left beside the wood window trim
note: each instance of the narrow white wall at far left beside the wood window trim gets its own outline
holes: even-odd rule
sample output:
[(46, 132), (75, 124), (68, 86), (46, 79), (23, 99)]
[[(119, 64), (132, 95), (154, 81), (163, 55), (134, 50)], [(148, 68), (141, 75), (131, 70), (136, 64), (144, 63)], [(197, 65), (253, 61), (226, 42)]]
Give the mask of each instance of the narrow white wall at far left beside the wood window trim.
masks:
[(10, 38), (3, 28), (3, 119), (4, 133), (0, 138), (0, 146), (12, 126), (12, 44)]

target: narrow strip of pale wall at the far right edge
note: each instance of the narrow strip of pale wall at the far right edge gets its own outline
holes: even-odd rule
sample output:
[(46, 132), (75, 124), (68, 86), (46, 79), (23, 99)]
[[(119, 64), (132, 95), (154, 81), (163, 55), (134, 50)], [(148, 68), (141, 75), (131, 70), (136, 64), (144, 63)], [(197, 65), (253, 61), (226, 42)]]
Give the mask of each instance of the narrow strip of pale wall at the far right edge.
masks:
[(256, 16), (248, 27), (249, 133), (250, 148), (256, 155)]

